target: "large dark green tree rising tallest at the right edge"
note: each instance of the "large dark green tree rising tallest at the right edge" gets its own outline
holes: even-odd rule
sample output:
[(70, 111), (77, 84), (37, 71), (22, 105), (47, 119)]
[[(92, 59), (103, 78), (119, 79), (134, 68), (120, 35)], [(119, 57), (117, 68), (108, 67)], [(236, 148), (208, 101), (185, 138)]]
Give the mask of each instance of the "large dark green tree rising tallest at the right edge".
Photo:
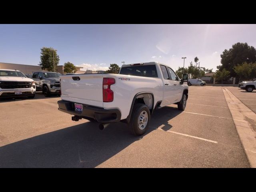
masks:
[(224, 68), (230, 71), (230, 76), (237, 77), (234, 66), (242, 65), (243, 62), (256, 62), (256, 49), (248, 46), (247, 43), (236, 43), (229, 50), (224, 50), (221, 57), (221, 64), (217, 69), (222, 71)]

